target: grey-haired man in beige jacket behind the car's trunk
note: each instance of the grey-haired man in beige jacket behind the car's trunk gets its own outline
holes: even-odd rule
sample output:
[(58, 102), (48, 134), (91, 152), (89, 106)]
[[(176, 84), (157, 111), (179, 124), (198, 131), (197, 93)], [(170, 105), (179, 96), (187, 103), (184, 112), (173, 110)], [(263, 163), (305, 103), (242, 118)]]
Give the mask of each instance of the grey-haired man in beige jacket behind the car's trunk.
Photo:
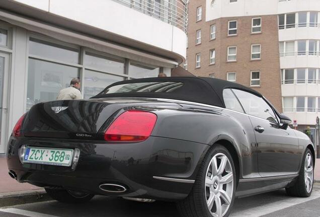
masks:
[(82, 99), (80, 87), (80, 79), (73, 78), (69, 87), (60, 90), (57, 100)]

